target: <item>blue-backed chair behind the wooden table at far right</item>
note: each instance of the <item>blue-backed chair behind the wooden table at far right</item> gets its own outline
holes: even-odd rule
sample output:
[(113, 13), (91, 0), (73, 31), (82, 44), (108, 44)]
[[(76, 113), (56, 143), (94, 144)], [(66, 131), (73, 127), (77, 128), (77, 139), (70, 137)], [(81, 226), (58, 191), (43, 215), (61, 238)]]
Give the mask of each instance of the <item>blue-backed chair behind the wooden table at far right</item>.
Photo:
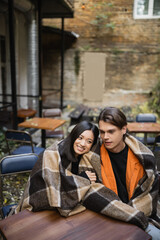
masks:
[[(136, 116), (136, 122), (156, 122), (157, 117), (153, 113), (139, 113)], [(144, 143), (144, 137), (138, 137), (136, 138)], [(147, 136), (147, 145), (153, 145), (155, 141), (154, 137), (148, 137)]]

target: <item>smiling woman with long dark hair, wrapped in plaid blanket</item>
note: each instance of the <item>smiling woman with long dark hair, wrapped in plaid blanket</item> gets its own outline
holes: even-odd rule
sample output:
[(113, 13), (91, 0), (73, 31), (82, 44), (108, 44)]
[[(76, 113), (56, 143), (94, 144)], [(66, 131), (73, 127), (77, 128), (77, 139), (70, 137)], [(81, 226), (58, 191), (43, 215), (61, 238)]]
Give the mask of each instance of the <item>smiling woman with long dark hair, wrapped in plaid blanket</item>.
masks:
[(85, 194), (86, 186), (97, 178), (86, 162), (93, 154), (90, 150), (98, 135), (99, 130), (94, 124), (83, 121), (73, 128), (67, 138), (46, 149), (31, 172), (15, 213), (24, 209), (40, 211), (57, 208), (64, 216), (72, 214), (72, 210), (81, 205), (78, 191)]

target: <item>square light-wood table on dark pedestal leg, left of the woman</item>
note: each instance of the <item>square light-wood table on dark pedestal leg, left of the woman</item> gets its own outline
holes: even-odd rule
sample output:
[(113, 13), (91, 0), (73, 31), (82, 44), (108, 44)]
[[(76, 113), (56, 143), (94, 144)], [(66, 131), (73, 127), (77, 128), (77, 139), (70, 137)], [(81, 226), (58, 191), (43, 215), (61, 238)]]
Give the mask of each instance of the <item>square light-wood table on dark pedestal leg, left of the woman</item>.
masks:
[(42, 129), (42, 147), (46, 147), (45, 141), (45, 130), (55, 130), (56, 128), (62, 126), (66, 120), (63, 119), (53, 119), (53, 118), (30, 118), (22, 123), (19, 123), (19, 127), (25, 128), (37, 128)]

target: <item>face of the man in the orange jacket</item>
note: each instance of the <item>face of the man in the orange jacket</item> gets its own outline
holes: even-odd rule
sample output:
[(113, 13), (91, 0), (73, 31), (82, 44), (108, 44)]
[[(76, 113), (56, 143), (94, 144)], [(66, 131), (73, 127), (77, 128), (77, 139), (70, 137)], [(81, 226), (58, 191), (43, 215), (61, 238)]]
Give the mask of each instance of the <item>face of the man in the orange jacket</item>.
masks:
[(111, 152), (118, 153), (123, 150), (125, 143), (123, 141), (123, 135), (126, 133), (127, 126), (122, 129), (112, 125), (111, 123), (99, 121), (99, 131), (101, 139), (106, 149)]

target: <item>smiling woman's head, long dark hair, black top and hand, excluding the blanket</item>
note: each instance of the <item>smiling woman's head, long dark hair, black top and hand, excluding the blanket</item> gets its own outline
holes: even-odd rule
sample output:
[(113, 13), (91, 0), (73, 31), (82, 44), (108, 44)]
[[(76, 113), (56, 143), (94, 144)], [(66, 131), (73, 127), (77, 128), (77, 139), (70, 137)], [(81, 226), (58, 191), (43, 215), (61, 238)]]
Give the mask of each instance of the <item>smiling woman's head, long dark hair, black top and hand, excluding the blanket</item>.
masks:
[[(81, 156), (90, 151), (91, 147), (97, 142), (99, 130), (96, 125), (83, 121), (78, 123), (69, 136), (59, 143), (59, 152), (62, 162), (72, 162), (71, 172), (78, 174), (78, 165)], [(81, 172), (81, 176), (90, 179), (90, 181), (96, 180), (95, 173), (91, 171)]]

